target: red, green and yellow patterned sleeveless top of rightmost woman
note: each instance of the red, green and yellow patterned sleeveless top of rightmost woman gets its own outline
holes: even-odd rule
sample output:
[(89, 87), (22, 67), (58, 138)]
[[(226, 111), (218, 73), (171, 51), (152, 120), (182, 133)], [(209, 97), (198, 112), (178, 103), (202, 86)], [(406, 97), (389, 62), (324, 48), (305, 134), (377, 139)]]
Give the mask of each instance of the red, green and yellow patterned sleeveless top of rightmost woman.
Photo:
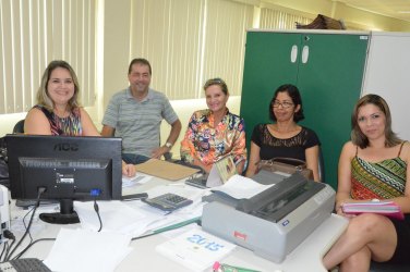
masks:
[(357, 149), (351, 161), (352, 199), (389, 199), (403, 196), (407, 163), (400, 159), (400, 152), (405, 143), (401, 144), (396, 158), (381, 162), (367, 162), (359, 158)]

